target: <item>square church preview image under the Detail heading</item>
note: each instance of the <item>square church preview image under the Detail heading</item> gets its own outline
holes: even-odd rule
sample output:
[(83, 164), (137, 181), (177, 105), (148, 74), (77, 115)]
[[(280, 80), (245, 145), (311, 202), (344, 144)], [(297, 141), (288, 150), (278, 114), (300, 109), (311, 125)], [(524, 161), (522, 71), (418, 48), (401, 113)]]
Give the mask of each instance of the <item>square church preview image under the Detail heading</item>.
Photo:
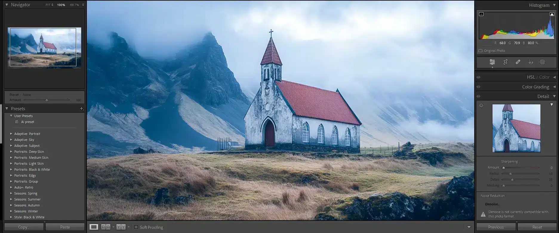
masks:
[(541, 152), (539, 104), (494, 104), (493, 152)]

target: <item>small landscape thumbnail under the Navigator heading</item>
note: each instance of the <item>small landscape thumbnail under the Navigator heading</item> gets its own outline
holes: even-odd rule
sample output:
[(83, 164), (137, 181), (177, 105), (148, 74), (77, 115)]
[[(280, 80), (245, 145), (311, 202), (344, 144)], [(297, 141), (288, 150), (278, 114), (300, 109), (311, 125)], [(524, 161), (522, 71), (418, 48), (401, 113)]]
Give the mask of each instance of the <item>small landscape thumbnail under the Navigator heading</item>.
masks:
[(81, 68), (82, 28), (7, 29), (8, 67)]

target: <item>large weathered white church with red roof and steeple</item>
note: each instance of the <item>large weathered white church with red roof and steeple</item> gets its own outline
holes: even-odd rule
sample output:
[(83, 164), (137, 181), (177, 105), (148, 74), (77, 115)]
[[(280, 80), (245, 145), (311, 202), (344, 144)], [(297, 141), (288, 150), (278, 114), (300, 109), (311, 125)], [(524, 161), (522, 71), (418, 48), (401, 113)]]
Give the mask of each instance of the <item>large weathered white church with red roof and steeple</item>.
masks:
[(244, 117), (245, 149), (359, 153), (361, 122), (340, 91), (283, 80), (272, 32)]

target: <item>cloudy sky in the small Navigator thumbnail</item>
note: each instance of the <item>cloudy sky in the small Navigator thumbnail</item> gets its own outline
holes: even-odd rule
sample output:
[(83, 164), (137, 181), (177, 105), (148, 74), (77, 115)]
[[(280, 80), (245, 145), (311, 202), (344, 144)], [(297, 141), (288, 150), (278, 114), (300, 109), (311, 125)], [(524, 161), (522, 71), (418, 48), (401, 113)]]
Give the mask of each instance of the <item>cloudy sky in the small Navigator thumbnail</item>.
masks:
[(82, 28), (8, 28), (8, 32), (19, 37), (33, 35), (35, 42), (39, 44), (41, 37), (44, 42), (54, 43), (58, 52), (82, 52)]

